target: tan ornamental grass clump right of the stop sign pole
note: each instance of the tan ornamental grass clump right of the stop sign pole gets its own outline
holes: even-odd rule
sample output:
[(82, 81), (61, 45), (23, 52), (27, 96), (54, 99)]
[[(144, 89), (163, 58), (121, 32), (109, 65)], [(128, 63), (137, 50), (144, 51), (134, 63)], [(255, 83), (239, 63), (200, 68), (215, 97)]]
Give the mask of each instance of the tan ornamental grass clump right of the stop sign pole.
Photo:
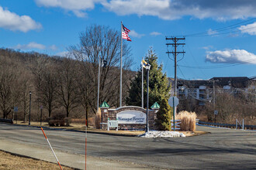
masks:
[(181, 111), (178, 113), (176, 119), (181, 120), (181, 131), (195, 131), (195, 112)]

